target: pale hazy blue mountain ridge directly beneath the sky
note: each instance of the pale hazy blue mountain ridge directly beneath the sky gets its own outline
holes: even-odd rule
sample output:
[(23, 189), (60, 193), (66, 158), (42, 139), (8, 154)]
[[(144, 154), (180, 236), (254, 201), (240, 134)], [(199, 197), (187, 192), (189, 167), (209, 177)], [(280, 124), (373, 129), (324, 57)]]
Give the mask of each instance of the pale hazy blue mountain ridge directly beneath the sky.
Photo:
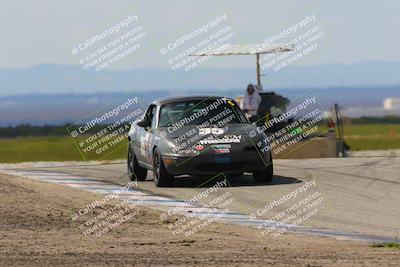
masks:
[[(400, 85), (400, 62), (362, 62), (289, 66), (267, 71), (264, 87), (325, 88)], [(84, 71), (79, 66), (37, 65), (0, 69), (0, 96), (16, 94), (96, 93), (148, 90), (244, 88), (255, 81), (255, 69), (132, 69)]]

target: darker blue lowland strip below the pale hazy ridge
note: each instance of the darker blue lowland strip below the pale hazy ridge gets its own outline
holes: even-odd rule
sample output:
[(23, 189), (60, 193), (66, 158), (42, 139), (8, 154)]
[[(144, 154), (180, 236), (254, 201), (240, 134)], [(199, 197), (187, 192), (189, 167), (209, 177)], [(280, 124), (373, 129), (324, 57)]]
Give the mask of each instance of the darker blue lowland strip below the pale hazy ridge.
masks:
[[(157, 90), (135, 91), (131, 90), (128, 96), (138, 98), (138, 106), (146, 107), (151, 101), (160, 97), (175, 95), (211, 94), (235, 97), (243, 94), (244, 89), (187, 89), (187, 90)], [(344, 107), (344, 115), (382, 116), (400, 114), (400, 111), (387, 112), (383, 109), (383, 99), (386, 97), (400, 97), (400, 86), (387, 87), (331, 87), (323, 89), (308, 88), (282, 88), (275, 92), (291, 100), (303, 95), (315, 95), (323, 109), (329, 110), (334, 103)], [(123, 98), (125, 97), (125, 98)], [(32, 125), (61, 125), (67, 122), (77, 122), (88, 117), (98, 109), (113, 104), (119, 104), (118, 99), (126, 99), (127, 93), (123, 91), (109, 93), (65, 93), (65, 94), (30, 94), (18, 96), (0, 96), (0, 127), (15, 126), (20, 124)], [(111, 104), (111, 105), (110, 105)], [(116, 104), (114, 104), (116, 105)]]

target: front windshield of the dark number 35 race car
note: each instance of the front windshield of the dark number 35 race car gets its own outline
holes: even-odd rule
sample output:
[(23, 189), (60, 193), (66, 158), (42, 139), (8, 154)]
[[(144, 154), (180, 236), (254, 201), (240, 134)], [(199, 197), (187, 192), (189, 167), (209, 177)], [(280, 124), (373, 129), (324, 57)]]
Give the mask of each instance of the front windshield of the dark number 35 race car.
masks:
[(227, 123), (246, 123), (237, 104), (226, 98), (185, 100), (166, 103), (160, 109), (160, 127), (174, 124), (202, 125)]

